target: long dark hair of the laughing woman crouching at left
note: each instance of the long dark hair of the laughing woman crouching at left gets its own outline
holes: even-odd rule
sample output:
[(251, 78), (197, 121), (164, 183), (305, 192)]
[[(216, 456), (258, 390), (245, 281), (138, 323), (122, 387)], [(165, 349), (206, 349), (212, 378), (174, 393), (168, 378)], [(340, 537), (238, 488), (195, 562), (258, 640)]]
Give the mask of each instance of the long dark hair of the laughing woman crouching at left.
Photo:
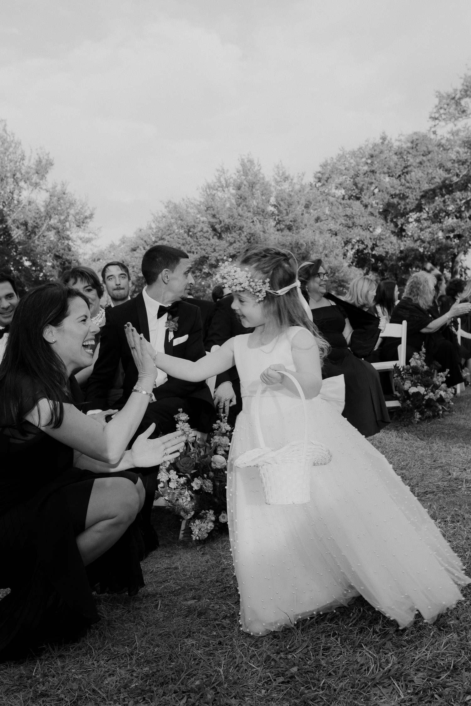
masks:
[(64, 402), (71, 402), (66, 366), (45, 340), (49, 324), (60, 326), (76, 297), (90, 307), (85, 294), (61, 282), (40, 285), (20, 299), (0, 364), (0, 417), (19, 425), (38, 400), (49, 400), (53, 429), (64, 419)]

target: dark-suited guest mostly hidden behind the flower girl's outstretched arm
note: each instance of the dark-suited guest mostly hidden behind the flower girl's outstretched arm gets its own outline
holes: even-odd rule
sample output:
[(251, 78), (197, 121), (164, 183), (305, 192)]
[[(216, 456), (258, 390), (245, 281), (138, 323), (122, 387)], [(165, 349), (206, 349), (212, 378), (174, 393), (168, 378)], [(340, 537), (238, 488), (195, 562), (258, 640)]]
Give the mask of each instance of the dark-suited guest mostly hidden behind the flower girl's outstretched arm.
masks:
[[(252, 333), (254, 330), (240, 323), (232, 309), (232, 301), (234, 301), (232, 294), (226, 294), (216, 302), (213, 321), (205, 339), (205, 348), (209, 352), (213, 346), (222, 346), (233, 336)], [(217, 411), (220, 414), (227, 414), (227, 421), (234, 426), (237, 414), (242, 409), (240, 380), (236, 366), (217, 376), (214, 400)]]

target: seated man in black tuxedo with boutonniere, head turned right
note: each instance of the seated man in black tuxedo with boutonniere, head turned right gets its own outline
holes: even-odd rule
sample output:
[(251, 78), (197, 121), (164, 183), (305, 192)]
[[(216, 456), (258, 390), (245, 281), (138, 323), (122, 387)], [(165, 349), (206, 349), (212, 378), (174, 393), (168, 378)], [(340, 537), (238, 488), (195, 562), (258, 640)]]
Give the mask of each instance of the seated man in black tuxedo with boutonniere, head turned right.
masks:
[[(137, 383), (138, 371), (124, 333), (128, 321), (156, 351), (190, 361), (205, 356), (200, 311), (197, 306), (182, 301), (194, 284), (187, 253), (168, 245), (155, 245), (144, 254), (141, 270), (147, 283), (143, 292), (124, 304), (106, 309), (100, 353), (89, 378), (83, 408), (88, 414), (109, 407), (107, 390), (112, 387), (120, 360), (124, 369), (123, 395), (114, 408), (124, 405)], [(155, 401), (149, 403), (136, 436), (153, 422), (157, 425), (153, 436), (173, 431), (174, 415), (179, 409), (189, 415), (191, 426), (200, 431), (210, 431), (215, 421), (213, 397), (205, 382), (189, 383), (157, 370), (153, 397)], [(157, 546), (150, 525), (157, 468), (139, 469), (139, 472), (146, 476), (146, 499), (141, 516), (146, 549), (151, 551)]]

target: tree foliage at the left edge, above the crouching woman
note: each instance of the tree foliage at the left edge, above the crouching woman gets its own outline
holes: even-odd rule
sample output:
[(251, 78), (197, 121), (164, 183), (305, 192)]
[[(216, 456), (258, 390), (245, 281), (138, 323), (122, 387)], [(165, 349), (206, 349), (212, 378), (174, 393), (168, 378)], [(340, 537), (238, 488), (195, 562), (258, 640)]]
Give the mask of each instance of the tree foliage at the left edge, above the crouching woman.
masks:
[(0, 121), (0, 263), (21, 289), (56, 279), (78, 263), (90, 241), (93, 210), (66, 184), (49, 184), (53, 161), (37, 151), (27, 157)]

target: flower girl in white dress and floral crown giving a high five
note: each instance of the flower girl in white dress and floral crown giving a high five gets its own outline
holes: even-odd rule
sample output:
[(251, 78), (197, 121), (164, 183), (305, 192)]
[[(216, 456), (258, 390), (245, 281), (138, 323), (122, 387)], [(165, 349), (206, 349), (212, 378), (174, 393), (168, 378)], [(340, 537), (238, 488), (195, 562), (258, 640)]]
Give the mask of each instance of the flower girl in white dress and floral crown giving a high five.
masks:
[[(194, 363), (149, 351), (158, 368), (188, 381), (237, 366), (243, 409), (229, 453), (227, 510), (243, 630), (264, 635), (359, 594), (401, 628), (417, 611), (434, 621), (462, 598), (457, 585), (470, 579), (386, 458), (318, 396), (326, 343), (298, 296), (294, 258), (273, 247), (254, 249), (238, 265), (225, 263), (221, 279), (254, 332)], [(302, 438), (302, 402), (278, 372), (284, 369), (306, 397), (312, 440), (332, 459), (311, 468), (309, 502), (268, 505), (257, 467), (234, 461), (260, 445), (253, 407), (261, 382), (266, 445), (278, 449)]]

